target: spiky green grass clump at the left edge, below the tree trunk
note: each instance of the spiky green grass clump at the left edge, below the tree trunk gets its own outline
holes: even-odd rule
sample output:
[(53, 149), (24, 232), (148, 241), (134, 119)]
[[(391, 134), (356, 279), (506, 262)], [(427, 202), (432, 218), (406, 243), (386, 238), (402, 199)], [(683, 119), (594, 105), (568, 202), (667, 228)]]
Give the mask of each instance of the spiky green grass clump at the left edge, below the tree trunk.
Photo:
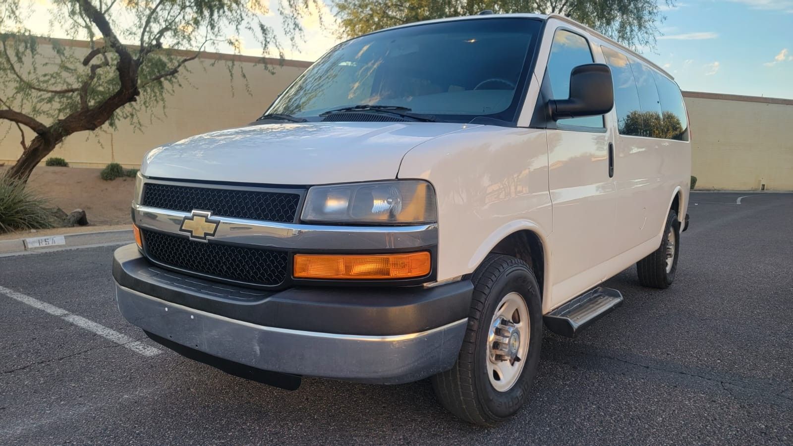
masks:
[(0, 175), (0, 233), (55, 225), (48, 202), (25, 189), (25, 183)]

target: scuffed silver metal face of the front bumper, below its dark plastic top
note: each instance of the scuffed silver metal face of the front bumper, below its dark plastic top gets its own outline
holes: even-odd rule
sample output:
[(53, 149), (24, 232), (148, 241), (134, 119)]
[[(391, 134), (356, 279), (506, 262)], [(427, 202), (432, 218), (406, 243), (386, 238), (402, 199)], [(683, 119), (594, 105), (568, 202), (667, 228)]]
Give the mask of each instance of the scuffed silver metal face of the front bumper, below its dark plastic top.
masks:
[(467, 325), (397, 336), (316, 333), (237, 321), (118, 284), (116, 298), (127, 321), (188, 348), (262, 370), (362, 383), (410, 383), (450, 369)]

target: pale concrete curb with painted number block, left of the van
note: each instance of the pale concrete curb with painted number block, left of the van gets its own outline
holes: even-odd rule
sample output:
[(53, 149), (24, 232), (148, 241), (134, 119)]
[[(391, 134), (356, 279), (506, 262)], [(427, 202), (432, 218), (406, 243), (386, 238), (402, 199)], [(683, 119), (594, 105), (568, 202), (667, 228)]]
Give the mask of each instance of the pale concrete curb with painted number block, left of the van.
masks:
[(132, 241), (135, 241), (132, 229), (27, 237), (24, 239), (0, 240), (0, 255), (48, 252), (53, 249), (79, 248), (98, 244), (122, 244)]

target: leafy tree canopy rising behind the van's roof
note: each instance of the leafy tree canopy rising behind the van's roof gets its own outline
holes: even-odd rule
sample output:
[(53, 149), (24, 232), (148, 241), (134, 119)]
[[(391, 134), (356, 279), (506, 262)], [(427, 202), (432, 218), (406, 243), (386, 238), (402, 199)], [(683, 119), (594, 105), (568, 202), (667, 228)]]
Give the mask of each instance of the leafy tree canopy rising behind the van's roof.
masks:
[[(665, 0), (672, 6), (673, 0)], [(637, 48), (655, 44), (665, 20), (656, 0), (334, 0), (343, 37), (442, 17), (495, 13), (559, 13)]]

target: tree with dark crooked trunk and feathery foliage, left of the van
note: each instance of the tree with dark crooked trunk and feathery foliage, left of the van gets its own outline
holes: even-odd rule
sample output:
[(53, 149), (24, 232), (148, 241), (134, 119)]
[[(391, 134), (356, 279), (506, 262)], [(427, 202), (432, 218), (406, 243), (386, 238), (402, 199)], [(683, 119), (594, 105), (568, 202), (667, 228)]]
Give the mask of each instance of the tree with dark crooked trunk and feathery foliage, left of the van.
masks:
[[(282, 32), (302, 36), (300, 19), (320, 0), (279, 0)], [(67, 136), (121, 120), (140, 128), (140, 110), (164, 106), (179, 75), (201, 51), (239, 36), (255, 37), (262, 54), (276, 49), (275, 30), (262, 21), (268, 0), (50, 0), (52, 21), (89, 48), (65, 48), (36, 37), (26, 24), (28, 0), (0, 2), (0, 122), (21, 134), (22, 155), (6, 175), (27, 181), (33, 168)], [(26, 12), (27, 11), (27, 12)], [(231, 36), (231, 37), (230, 37)], [(44, 50), (42, 43), (51, 45)], [(262, 66), (272, 72), (271, 66)], [(228, 62), (229, 74), (237, 68)], [(242, 68), (239, 67), (239, 70)], [(244, 72), (240, 73), (244, 76)], [(25, 130), (29, 129), (29, 130)], [(31, 135), (32, 132), (33, 134)], [(33, 138), (25, 138), (28, 133)]]

